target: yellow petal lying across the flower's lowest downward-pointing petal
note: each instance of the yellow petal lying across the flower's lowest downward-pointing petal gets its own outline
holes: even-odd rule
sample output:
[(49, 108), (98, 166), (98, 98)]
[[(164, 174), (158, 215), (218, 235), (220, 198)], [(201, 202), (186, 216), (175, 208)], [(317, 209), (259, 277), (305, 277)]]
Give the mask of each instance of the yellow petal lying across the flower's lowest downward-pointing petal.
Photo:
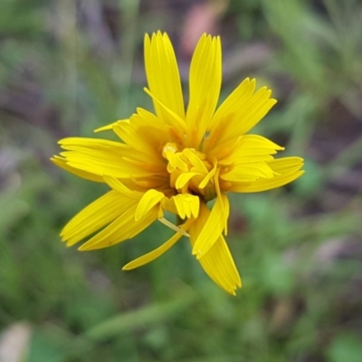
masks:
[(221, 236), (228, 217), (229, 200), (226, 195), (221, 194), (221, 197), (216, 197), (214, 207), (195, 241), (193, 254), (196, 255), (197, 259), (202, 258)]

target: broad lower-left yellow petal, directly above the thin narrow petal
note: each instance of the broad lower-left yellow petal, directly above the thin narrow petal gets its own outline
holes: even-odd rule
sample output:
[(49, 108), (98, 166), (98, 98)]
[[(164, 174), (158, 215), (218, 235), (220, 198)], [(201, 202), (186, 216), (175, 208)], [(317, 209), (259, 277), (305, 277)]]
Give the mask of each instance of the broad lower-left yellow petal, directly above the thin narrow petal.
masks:
[(87, 243), (83, 243), (78, 250), (89, 251), (121, 243), (141, 233), (157, 220), (157, 207), (154, 207), (138, 221), (135, 221), (136, 209), (137, 205), (129, 207), (113, 223), (101, 230), (100, 233), (95, 234)]

